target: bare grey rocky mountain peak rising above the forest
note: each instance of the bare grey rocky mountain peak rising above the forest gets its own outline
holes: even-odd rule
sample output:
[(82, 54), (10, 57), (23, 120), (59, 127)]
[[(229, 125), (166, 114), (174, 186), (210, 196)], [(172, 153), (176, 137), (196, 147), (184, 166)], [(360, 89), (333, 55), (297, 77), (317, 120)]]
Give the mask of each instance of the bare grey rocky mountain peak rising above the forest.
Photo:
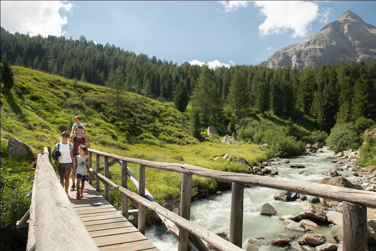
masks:
[(298, 70), (311, 69), (343, 61), (366, 63), (376, 60), (376, 27), (365, 23), (358, 15), (346, 11), (336, 21), (302, 43), (291, 44), (274, 53), (259, 65), (269, 68), (290, 66)]

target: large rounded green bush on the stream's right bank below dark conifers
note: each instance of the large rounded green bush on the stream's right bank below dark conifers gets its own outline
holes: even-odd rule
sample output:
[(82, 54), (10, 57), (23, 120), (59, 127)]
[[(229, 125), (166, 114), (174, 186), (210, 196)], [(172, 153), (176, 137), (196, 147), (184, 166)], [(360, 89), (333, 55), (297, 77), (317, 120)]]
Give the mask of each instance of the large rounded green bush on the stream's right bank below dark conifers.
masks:
[(353, 128), (352, 123), (335, 125), (326, 139), (327, 148), (335, 153), (357, 149), (361, 145), (361, 138)]

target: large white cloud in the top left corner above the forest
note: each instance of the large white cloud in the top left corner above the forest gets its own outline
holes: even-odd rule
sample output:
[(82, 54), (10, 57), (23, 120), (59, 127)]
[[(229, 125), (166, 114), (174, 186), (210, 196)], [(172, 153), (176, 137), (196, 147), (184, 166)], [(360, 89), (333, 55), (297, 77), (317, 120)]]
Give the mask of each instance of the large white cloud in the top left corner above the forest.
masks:
[(29, 33), (30, 36), (65, 35), (68, 18), (59, 9), (72, 11), (66, 1), (1, 1), (1, 26), (10, 33)]

